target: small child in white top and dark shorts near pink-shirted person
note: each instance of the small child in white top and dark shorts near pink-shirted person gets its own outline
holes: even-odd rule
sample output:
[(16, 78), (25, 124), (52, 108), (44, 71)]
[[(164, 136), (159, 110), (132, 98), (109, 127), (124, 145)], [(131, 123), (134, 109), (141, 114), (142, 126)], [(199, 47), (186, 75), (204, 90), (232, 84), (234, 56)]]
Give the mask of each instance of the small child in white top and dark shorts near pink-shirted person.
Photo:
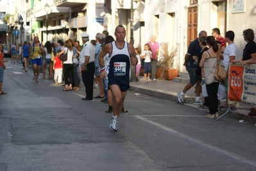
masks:
[(141, 59), (145, 59), (144, 61), (144, 79), (146, 82), (150, 81), (149, 77), (151, 74), (151, 58), (152, 52), (149, 47), (149, 44), (144, 45), (144, 51), (141, 53)]

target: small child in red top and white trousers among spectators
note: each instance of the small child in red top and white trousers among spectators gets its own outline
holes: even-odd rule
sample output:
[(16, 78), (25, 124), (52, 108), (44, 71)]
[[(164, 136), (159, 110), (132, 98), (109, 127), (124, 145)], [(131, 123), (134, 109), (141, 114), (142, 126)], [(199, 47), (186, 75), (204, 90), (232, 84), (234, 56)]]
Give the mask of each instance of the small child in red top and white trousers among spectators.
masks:
[[(58, 50), (57, 53), (60, 53), (61, 50)], [(60, 60), (60, 56), (55, 56), (55, 60), (53, 61), (53, 70), (55, 70), (55, 84), (60, 85), (62, 83), (62, 61)]]

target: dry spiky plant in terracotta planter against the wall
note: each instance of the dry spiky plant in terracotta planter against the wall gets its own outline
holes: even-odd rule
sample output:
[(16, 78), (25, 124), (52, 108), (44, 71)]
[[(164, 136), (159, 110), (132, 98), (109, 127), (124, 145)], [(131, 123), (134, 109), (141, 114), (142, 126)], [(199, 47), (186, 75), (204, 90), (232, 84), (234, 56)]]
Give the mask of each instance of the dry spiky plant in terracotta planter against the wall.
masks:
[(177, 54), (177, 47), (172, 47), (169, 50), (168, 43), (160, 44), (160, 67), (162, 68), (160, 72), (160, 77), (164, 79), (173, 80), (173, 77), (178, 76), (178, 69), (174, 69), (173, 63)]

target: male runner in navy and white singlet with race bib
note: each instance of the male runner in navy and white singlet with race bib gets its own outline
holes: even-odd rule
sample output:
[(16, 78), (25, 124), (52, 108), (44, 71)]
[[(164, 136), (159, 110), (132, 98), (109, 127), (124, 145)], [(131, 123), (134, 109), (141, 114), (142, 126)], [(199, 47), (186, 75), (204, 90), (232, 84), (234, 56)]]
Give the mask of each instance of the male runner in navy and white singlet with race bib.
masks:
[[(135, 66), (138, 60), (132, 44), (124, 41), (126, 31), (123, 26), (115, 28), (115, 41), (105, 45), (99, 54), (101, 77), (108, 77), (108, 86), (113, 95), (113, 115), (110, 120), (110, 129), (118, 131), (117, 117), (119, 117), (124, 104), (126, 91), (130, 88), (131, 65)], [(108, 67), (104, 66), (104, 56), (109, 54)]]

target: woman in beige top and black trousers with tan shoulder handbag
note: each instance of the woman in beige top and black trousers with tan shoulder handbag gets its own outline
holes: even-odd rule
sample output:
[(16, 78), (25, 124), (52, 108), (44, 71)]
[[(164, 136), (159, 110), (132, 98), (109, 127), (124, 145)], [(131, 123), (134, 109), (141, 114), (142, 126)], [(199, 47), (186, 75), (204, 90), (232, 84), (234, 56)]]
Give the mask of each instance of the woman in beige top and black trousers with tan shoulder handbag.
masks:
[[(216, 72), (217, 60), (219, 58), (218, 44), (214, 37), (206, 38), (208, 51), (205, 51), (201, 57), (200, 67), (204, 69), (205, 84), (209, 97), (209, 114), (205, 118), (218, 118), (218, 86), (219, 81), (214, 77)], [(219, 59), (220, 60), (220, 59)]]

